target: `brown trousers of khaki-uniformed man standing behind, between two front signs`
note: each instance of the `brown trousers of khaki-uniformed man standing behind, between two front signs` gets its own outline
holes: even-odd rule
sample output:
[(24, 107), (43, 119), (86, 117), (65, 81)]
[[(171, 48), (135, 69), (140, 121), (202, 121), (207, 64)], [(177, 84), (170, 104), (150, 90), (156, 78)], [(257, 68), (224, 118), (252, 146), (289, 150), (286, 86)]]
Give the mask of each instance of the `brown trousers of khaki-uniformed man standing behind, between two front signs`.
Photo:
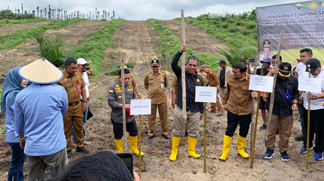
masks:
[(159, 109), (161, 131), (163, 135), (168, 135), (168, 105), (167, 102), (161, 104), (151, 104), (151, 114), (148, 115), (148, 135), (153, 136), (155, 134), (155, 120), (156, 120), (156, 108)]

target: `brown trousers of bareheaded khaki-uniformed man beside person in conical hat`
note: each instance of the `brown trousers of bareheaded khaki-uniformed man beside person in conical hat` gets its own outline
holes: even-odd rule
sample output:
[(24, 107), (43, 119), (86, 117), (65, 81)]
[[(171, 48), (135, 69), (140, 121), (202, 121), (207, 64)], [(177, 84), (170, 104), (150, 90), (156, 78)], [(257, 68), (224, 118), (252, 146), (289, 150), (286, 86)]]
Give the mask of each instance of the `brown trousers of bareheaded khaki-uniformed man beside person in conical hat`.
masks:
[(63, 116), (64, 134), (66, 139), (66, 150), (71, 150), (73, 146), (72, 141), (72, 123), (74, 131), (74, 140), (77, 147), (83, 147), (83, 112), (81, 101), (75, 105), (69, 105), (66, 114)]

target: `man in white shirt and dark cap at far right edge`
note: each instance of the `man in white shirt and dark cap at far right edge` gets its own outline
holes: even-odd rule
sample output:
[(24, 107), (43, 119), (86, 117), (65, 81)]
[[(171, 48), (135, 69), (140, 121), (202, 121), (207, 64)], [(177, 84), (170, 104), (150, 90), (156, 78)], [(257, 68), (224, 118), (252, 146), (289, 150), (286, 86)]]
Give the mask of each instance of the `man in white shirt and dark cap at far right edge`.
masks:
[[(311, 69), (311, 78), (322, 80), (322, 93), (303, 92), (304, 99), (304, 120), (308, 119), (308, 100), (311, 100), (310, 111), (310, 133), (309, 133), (309, 150), (314, 149), (314, 159), (323, 160), (324, 151), (324, 68), (321, 62), (316, 58), (311, 58), (306, 63), (306, 72)], [(308, 74), (308, 73), (307, 73)], [(307, 121), (304, 121), (307, 128)], [(315, 146), (313, 144), (314, 133), (316, 134)], [(307, 129), (306, 129), (307, 135)], [(301, 153), (306, 153), (307, 136), (304, 138), (304, 145), (300, 149)]]

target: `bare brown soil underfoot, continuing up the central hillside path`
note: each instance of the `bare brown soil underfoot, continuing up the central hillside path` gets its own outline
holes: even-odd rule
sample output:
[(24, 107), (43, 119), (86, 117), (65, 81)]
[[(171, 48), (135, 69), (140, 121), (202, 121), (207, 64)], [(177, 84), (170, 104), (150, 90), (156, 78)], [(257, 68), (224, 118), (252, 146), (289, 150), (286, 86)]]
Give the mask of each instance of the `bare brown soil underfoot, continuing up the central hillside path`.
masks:
[[(190, 29), (187, 29), (191, 34)], [(120, 63), (124, 59), (126, 62), (134, 63), (134, 68), (130, 69), (134, 75), (142, 98), (147, 97), (147, 91), (143, 88), (145, 73), (150, 71), (147, 60), (161, 58), (154, 53), (160, 45), (156, 44), (158, 37), (153, 28), (143, 21), (126, 21), (115, 33), (111, 42), (113, 45), (107, 48), (104, 60), (105, 69), (109, 70), (111, 64)], [(146, 50), (145, 50), (146, 49)], [(113, 53), (115, 52), (115, 53)], [(118, 53), (118, 54), (116, 54)], [(162, 62), (162, 69), (168, 70), (170, 62)], [(171, 107), (171, 81), (172, 72), (168, 73), (169, 86), (168, 96), (168, 126), (171, 135), (173, 125), (174, 109)], [(85, 125), (87, 132), (86, 140), (91, 141), (91, 145), (86, 147), (90, 153), (102, 150), (116, 151), (114, 143), (113, 128), (110, 121), (110, 107), (107, 103), (107, 89), (112, 84), (112, 75), (98, 75), (90, 79), (90, 103), (94, 117)], [(145, 156), (141, 162), (142, 181), (300, 181), (312, 180), (323, 181), (323, 161), (313, 159), (314, 152), (310, 152), (309, 169), (305, 170), (305, 155), (299, 153), (302, 142), (295, 141), (300, 131), (298, 112), (294, 113), (294, 126), (290, 138), (288, 154), (289, 162), (283, 162), (275, 152), (271, 160), (263, 159), (265, 147), (263, 143), (264, 131), (257, 133), (256, 154), (254, 169), (250, 169), (250, 160), (239, 157), (236, 153), (237, 134), (234, 135), (229, 157), (226, 162), (219, 162), (218, 157), (222, 150), (223, 135), (226, 129), (226, 114), (216, 117), (215, 113), (207, 113), (207, 174), (203, 174), (203, 159), (193, 159), (187, 156), (187, 137), (180, 140), (178, 158), (176, 162), (170, 162), (171, 139), (166, 140), (161, 136), (160, 121), (156, 121), (156, 135), (153, 139), (146, 139), (145, 130), (147, 127), (147, 116), (141, 116), (141, 148)], [(138, 116), (135, 117), (139, 126)], [(258, 128), (261, 126), (259, 120)], [(1, 123), (2, 127), (4, 122)], [(128, 147), (128, 146), (127, 146)], [(246, 151), (250, 153), (250, 134), (247, 137)], [(4, 136), (0, 138), (0, 180), (5, 181), (7, 168), (10, 160), (9, 146), (4, 141)], [(278, 149), (276, 147), (276, 149)], [(128, 151), (128, 148), (124, 151)], [(74, 153), (71, 160), (80, 158), (83, 154)], [(196, 152), (203, 154), (203, 122), (200, 122), (200, 137), (196, 145)], [(134, 171), (138, 171), (138, 157), (134, 157)], [(26, 170), (25, 170), (26, 174)]]

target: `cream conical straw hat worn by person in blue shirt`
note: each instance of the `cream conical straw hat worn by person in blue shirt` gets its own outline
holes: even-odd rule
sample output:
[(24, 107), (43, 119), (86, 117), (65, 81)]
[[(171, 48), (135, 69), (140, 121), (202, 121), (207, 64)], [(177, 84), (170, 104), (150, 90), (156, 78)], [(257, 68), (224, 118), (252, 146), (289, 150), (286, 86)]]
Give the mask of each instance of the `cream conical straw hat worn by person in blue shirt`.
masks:
[(45, 58), (22, 67), (19, 75), (27, 81), (37, 84), (52, 84), (62, 79), (62, 72)]

